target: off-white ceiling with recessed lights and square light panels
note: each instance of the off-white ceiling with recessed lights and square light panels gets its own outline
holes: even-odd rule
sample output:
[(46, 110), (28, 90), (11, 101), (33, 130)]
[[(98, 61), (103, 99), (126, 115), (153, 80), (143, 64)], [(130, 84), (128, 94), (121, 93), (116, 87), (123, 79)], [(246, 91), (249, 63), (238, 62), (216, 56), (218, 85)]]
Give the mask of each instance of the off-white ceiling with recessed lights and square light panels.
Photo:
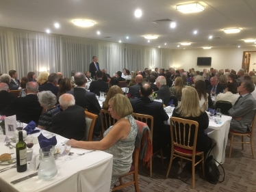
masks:
[[(256, 38), (255, 0), (206, 0), (197, 1), (205, 7), (203, 12), (183, 14), (175, 5), (183, 0), (1, 0), (0, 26), (27, 29), (66, 36), (107, 40), (144, 46), (161, 46), (167, 49), (234, 48), (255, 46), (244, 42), (245, 38)], [(136, 18), (136, 9), (142, 16)], [(77, 18), (96, 22), (93, 27), (73, 25)], [(153, 20), (169, 18), (177, 23), (175, 29), (170, 22), (153, 23)], [(54, 23), (60, 23), (55, 29)], [(226, 34), (223, 29), (239, 27), (240, 33)], [(193, 31), (198, 33), (194, 35)], [(101, 31), (97, 35), (97, 31)], [(159, 38), (147, 42), (146, 34)], [(126, 37), (129, 36), (127, 40)], [(209, 40), (209, 36), (213, 36)], [(109, 38), (106, 38), (109, 37)], [(192, 42), (190, 46), (179, 46), (181, 42)], [(166, 45), (165, 45), (166, 43)]]

